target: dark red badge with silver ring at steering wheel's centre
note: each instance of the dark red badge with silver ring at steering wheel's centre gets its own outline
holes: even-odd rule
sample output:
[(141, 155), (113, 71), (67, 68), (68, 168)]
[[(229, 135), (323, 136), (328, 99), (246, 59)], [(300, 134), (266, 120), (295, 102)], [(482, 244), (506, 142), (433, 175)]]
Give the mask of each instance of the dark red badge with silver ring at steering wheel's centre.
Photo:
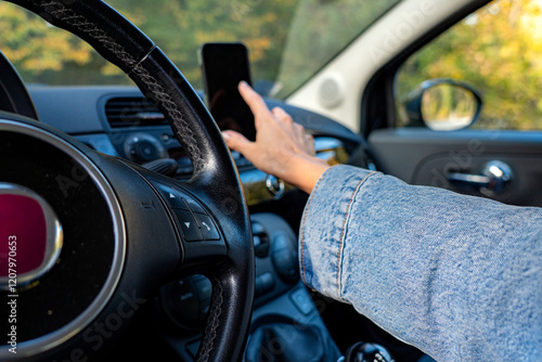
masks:
[(41, 196), (11, 183), (0, 183), (0, 288), (15, 294), (56, 263), (63, 231)]

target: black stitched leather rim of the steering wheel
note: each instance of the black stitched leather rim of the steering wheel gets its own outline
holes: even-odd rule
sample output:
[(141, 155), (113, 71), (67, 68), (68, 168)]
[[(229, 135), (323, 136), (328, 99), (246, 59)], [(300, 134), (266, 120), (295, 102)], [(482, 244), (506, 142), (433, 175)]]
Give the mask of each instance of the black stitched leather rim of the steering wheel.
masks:
[[(214, 294), (199, 361), (241, 360), (254, 298), (255, 260), (241, 182), (220, 131), (177, 67), (124, 16), (99, 0), (10, 0), (89, 42), (155, 100), (194, 165), (189, 181), (219, 221), (224, 262), (209, 272)], [(222, 203), (222, 201), (234, 201)]]

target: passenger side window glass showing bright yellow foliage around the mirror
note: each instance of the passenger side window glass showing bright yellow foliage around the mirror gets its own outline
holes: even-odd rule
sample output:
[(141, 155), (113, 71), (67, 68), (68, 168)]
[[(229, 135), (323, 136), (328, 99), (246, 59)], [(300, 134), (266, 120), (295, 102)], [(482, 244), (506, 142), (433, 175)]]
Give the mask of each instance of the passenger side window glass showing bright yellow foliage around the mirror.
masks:
[(410, 56), (396, 75), (398, 127), (412, 124), (409, 94), (436, 78), (478, 91), (470, 128), (542, 129), (542, 1), (493, 1)]

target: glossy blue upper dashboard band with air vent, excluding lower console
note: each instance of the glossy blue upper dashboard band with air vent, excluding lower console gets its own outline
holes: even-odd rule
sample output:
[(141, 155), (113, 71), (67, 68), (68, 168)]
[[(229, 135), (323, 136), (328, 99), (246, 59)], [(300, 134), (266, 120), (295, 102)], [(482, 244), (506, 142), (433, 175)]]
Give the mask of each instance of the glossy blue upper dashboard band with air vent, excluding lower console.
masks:
[[(133, 87), (30, 86), (30, 96), (41, 121), (53, 126), (91, 148), (143, 165), (153, 171), (188, 179), (190, 158), (162, 113)], [(199, 93), (203, 98), (203, 94)], [(317, 155), (330, 164), (341, 164), (362, 143), (360, 137), (339, 124), (276, 100), (294, 120), (314, 135)], [(280, 199), (291, 185), (254, 168), (238, 153), (232, 153), (249, 206)]]

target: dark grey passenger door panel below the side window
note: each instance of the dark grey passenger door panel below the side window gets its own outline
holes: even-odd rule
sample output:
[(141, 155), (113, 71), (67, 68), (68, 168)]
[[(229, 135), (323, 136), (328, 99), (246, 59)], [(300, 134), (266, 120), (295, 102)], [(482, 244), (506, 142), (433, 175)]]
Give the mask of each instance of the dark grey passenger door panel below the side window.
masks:
[[(542, 206), (542, 132), (426, 129), (375, 130), (369, 138), (379, 170), (405, 182), (519, 205)], [(481, 174), (489, 161), (509, 166), (512, 177), (500, 193), (488, 192), (450, 174)]]

